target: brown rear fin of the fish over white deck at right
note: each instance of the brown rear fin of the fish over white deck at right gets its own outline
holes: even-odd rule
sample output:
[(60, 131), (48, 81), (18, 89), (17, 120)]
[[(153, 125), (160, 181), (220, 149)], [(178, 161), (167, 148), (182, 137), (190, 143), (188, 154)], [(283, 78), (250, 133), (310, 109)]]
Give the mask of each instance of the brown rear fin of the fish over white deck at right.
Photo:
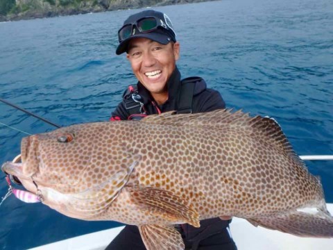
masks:
[(254, 226), (300, 237), (333, 238), (333, 217), (320, 210), (315, 214), (293, 211), (274, 217), (256, 217), (248, 221)]

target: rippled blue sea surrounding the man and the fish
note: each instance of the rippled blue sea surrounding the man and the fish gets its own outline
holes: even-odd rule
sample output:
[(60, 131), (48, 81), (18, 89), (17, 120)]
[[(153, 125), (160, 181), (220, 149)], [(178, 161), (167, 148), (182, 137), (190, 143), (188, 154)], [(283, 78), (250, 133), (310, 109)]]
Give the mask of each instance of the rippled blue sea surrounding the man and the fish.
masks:
[[(234, 0), (155, 8), (173, 21), (182, 77), (201, 76), (228, 108), (274, 117), (299, 155), (333, 154), (333, 1)], [(127, 85), (116, 56), (120, 10), (0, 23), (0, 97), (67, 126), (106, 121)], [(54, 128), (0, 103), (0, 122), (26, 133)], [(24, 133), (0, 124), (0, 164), (20, 153)], [(333, 202), (333, 161), (307, 162)], [(7, 192), (0, 174), (0, 197)], [(0, 206), (0, 249), (27, 249), (110, 228), (41, 203)]]

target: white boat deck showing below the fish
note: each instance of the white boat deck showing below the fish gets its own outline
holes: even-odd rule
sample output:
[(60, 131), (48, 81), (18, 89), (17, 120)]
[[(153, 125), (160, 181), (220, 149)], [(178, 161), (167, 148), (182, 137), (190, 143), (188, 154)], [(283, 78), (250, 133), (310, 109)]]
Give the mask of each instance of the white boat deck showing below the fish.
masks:
[[(327, 204), (333, 214), (333, 203)], [(123, 227), (62, 240), (33, 250), (100, 250), (105, 249)], [(300, 238), (279, 231), (257, 228), (245, 219), (234, 218), (230, 230), (239, 250), (332, 250), (333, 239)]]

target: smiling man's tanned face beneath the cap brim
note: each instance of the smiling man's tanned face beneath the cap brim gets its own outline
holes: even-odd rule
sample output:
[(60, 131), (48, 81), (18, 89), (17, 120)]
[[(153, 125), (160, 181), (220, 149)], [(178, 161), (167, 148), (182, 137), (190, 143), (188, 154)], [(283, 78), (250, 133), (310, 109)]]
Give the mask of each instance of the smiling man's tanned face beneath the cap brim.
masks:
[(164, 45), (148, 38), (133, 38), (127, 58), (137, 79), (154, 97), (167, 92), (167, 81), (179, 58), (179, 43)]

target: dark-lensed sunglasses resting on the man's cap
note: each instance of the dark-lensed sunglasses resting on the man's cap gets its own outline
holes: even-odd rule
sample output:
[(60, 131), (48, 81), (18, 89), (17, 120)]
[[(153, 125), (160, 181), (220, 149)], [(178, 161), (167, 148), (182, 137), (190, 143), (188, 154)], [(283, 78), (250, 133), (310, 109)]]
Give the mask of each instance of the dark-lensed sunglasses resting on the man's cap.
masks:
[(126, 24), (122, 26), (118, 31), (119, 42), (122, 42), (123, 40), (130, 38), (130, 36), (135, 35), (136, 31), (134, 27), (137, 27), (137, 31), (140, 33), (149, 33), (151, 31), (155, 31), (158, 27), (162, 27), (167, 30), (169, 29), (167, 24), (164, 24), (161, 19), (156, 17), (144, 17), (137, 20), (137, 22), (133, 24)]

